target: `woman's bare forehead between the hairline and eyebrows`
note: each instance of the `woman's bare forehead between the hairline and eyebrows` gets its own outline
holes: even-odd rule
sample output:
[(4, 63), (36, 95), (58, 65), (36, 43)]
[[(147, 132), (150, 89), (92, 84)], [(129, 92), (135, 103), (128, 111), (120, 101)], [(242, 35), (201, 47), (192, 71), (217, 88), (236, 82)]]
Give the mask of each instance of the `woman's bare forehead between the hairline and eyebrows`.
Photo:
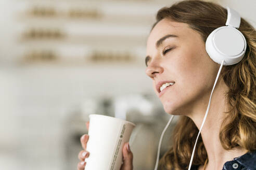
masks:
[(147, 46), (155, 46), (158, 39), (168, 34), (174, 34), (180, 38), (186, 37), (190, 30), (189, 25), (186, 23), (175, 22), (170, 19), (162, 19), (150, 32)]

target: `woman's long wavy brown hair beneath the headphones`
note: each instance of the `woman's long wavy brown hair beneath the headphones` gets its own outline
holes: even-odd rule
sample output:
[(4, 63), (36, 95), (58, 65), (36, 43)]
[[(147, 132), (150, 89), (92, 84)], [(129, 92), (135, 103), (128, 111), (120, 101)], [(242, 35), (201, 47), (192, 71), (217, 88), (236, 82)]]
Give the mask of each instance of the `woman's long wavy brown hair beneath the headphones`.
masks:
[[(222, 6), (204, 1), (190, 0), (164, 7), (157, 13), (157, 22), (162, 19), (187, 23), (200, 33), (204, 42), (217, 27), (224, 26), (227, 10)], [(221, 78), (229, 88), (226, 93), (229, 119), (221, 126), (219, 138), (224, 149), (242, 147), (256, 150), (256, 34), (255, 29), (241, 18), (239, 31), (244, 34), (247, 49), (244, 58), (232, 66), (223, 66)], [(181, 116), (173, 131), (173, 144), (160, 160), (159, 169), (187, 169), (198, 129), (194, 122)], [(193, 166), (204, 165), (208, 161), (202, 138), (199, 137)]]

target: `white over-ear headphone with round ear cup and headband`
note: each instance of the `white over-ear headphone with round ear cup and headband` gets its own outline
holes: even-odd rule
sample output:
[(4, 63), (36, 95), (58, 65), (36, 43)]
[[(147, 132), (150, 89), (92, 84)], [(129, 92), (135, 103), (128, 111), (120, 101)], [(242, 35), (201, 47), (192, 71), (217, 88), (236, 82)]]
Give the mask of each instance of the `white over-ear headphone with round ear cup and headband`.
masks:
[(233, 65), (242, 60), (246, 52), (246, 39), (237, 30), (240, 26), (240, 15), (237, 11), (227, 7), (227, 26), (215, 29), (206, 40), (206, 51), (210, 58), (224, 65)]

